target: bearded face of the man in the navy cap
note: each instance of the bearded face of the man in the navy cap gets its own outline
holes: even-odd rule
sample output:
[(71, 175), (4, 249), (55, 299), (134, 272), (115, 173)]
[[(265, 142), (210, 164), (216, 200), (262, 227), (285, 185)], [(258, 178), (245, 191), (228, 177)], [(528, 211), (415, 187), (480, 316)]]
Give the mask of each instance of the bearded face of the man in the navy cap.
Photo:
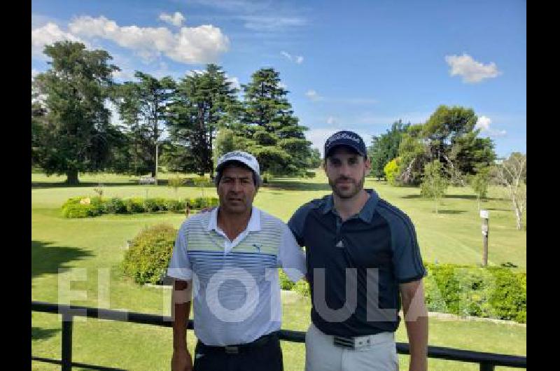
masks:
[(325, 173), (332, 192), (340, 198), (351, 198), (363, 189), (365, 174), (371, 169), (370, 160), (365, 160), (351, 149), (334, 148), (325, 161)]

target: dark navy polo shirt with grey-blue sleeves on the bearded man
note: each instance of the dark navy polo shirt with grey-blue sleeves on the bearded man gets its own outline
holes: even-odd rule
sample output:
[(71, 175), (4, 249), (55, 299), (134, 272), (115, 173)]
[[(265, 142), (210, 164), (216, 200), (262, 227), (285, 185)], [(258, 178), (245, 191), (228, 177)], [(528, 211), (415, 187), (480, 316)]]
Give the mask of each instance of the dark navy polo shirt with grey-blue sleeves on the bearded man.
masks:
[(344, 222), (332, 195), (304, 204), (288, 221), (306, 247), (311, 321), (328, 335), (394, 332), (399, 284), (426, 275), (410, 218), (367, 192), (363, 209)]

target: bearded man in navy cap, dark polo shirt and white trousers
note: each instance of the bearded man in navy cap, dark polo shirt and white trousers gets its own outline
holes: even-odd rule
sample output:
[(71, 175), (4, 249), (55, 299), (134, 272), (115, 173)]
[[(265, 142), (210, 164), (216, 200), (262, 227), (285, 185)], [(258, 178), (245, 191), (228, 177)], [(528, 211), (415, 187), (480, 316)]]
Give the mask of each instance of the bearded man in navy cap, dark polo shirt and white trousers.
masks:
[(363, 188), (363, 139), (341, 131), (325, 142), (332, 194), (295, 211), (288, 226), (306, 247), (311, 325), (305, 369), (398, 370), (395, 330), (404, 311), (410, 370), (426, 370), (426, 275), (410, 218)]

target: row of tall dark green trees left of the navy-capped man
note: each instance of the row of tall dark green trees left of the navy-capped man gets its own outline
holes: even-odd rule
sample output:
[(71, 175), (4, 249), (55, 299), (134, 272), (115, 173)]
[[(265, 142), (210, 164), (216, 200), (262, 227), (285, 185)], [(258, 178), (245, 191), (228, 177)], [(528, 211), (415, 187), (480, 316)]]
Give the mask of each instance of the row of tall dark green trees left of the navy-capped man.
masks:
[[(179, 80), (136, 71), (135, 81), (119, 84), (105, 50), (62, 41), (44, 53), (50, 68), (31, 90), (31, 162), (69, 184), (79, 172), (155, 176), (156, 155), (170, 171), (210, 176), (216, 158), (235, 149), (272, 175), (304, 175), (320, 164), (272, 68), (255, 71), (241, 90), (216, 64)], [(120, 125), (111, 124), (107, 102)]]

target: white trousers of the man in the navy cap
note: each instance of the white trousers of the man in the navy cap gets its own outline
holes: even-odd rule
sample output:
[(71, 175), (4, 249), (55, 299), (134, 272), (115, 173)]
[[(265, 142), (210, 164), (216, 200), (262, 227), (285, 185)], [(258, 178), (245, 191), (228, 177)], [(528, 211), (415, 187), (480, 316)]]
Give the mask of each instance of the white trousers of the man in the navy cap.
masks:
[(309, 325), (305, 335), (305, 371), (398, 371), (393, 332), (370, 335), (370, 345), (358, 349), (336, 346), (332, 335)]

